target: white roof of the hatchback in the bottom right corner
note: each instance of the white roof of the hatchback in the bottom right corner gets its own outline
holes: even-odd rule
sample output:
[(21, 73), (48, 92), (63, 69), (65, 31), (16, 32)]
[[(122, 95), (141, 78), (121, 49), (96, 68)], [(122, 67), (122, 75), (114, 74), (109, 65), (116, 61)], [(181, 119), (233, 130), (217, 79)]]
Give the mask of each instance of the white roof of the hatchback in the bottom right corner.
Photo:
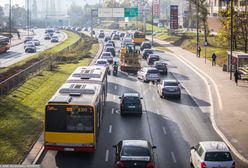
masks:
[(228, 146), (222, 141), (203, 141), (199, 143), (206, 152), (229, 152)]

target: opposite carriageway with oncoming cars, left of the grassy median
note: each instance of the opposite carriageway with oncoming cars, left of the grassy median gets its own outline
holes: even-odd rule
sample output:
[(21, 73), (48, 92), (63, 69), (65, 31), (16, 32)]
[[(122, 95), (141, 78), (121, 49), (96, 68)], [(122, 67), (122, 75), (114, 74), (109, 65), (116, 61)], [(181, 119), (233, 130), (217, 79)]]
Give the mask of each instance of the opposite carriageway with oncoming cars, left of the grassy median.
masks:
[[(59, 43), (51, 43), (50, 40), (44, 40), (45, 29), (35, 29), (35, 38), (40, 40), (40, 46), (37, 46), (37, 52), (44, 51), (51, 48), (65, 39), (67, 39), (67, 34), (64, 32), (58, 33)], [(24, 38), (24, 37), (23, 37)], [(13, 65), (25, 58), (28, 58), (36, 53), (25, 53), (24, 44), (19, 44), (17, 46), (11, 47), (6, 53), (0, 54), (0, 68), (8, 67)]]

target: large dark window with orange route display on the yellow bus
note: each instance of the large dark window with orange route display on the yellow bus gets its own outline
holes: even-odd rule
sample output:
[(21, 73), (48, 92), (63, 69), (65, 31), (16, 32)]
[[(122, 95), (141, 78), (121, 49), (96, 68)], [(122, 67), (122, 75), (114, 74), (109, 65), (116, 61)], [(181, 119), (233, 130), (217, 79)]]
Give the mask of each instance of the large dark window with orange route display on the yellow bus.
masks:
[(45, 121), (48, 132), (94, 132), (94, 112), (90, 106), (47, 105)]

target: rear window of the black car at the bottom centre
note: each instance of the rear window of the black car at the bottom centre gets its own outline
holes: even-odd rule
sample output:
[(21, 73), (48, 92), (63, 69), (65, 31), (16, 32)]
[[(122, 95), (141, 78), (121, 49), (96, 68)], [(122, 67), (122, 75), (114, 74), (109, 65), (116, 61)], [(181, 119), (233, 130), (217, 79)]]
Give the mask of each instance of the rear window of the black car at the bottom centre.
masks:
[(124, 146), (121, 151), (122, 156), (150, 156), (149, 150), (139, 146)]

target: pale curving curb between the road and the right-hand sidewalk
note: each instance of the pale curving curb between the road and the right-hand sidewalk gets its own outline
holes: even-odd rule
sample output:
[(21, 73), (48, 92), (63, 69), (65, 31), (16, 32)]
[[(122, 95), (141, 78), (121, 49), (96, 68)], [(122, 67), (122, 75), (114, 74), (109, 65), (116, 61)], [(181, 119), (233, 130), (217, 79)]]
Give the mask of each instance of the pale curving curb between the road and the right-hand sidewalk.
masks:
[[(248, 164), (248, 159), (246, 159), (243, 155), (241, 155), (239, 153), (239, 151), (232, 145), (232, 143), (227, 139), (227, 137), (221, 132), (221, 130), (218, 128), (216, 122), (215, 122), (215, 118), (214, 118), (214, 114), (215, 114), (215, 110), (213, 108), (213, 95), (212, 95), (212, 91), (210, 88), (210, 85), (208, 84), (208, 81), (206, 78), (208, 78), (208, 80), (210, 80), (210, 82), (213, 84), (214, 90), (216, 90), (216, 94), (218, 97), (218, 103), (219, 103), (219, 108), (222, 109), (222, 103), (220, 102), (220, 95), (219, 95), (219, 90), (218, 87), (216, 85), (216, 83), (214, 82), (214, 80), (207, 75), (205, 72), (203, 72), (201, 69), (199, 69), (198, 67), (196, 67), (195, 65), (193, 65), (191, 62), (189, 62), (188, 60), (186, 60), (185, 58), (183, 58), (183, 56), (181, 55), (175, 55), (173, 53), (169, 53), (164, 51), (164, 53), (169, 54), (169, 55), (173, 55), (174, 57), (177, 57), (181, 62), (183, 62), (186, 66), (188, 66), (191, 70), (193, 70), (194, 72), (196, 72), (196, 74), (203, 79), (203, 81), (205, 82), (206, 86), (208, 87), (208, 92), (209, 92), (209, 98), (211, 101), (211, 110), (210, 110), (210, 120), (212, 123), (212, 126), (215, 130), (215, 132), (222, 138), (222, 140), (231, 148), (232, 152), (244, 163)], [(187, 63), (187, 64), (186, 64)], [(185, 88), (185, 87), (184, 87)], [(186, 92), (188, 92), (187, 89), (185, 89)], [(190, 92), (188, 92), (190, 93)], [(190, 97), (193, 99), (193, 101), (197, 104), (197, 106), (201, 109), (200, 105), (198, 104), (198, 102), (190, 95)], [(202, 111), (202, 109), (201, 109)]]

